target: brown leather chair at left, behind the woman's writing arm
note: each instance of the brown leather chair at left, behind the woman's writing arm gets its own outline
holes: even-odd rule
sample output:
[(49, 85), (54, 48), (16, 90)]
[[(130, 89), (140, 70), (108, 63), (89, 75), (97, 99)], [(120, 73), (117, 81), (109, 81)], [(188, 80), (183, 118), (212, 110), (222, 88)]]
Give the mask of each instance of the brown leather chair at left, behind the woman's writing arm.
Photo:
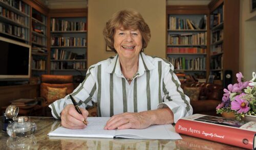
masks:
[(51, 109), (48, 105), (54, 101), (48, 99), (47, 87), (67, 88), (68, 95), (74, 91), (73, 75), (41, 75), (40, 97), (43, 99), (42, 106), (44, 106), (44, 114), (45, 116), (52, 117)]

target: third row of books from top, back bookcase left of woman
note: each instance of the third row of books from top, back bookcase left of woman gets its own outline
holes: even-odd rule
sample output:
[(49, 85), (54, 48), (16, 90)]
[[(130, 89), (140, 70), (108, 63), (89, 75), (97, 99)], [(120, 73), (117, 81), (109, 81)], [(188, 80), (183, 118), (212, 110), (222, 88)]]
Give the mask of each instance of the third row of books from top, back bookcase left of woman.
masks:
[[(72, 59), (77, 59), (76, 56), (77, 56), (77, 53), (73, 53), (71, 51), (66, 51), (61, 49), (51, 50), (52, 60), (72, 60)], [(81, 59), (84, 59), (84, 56)]]

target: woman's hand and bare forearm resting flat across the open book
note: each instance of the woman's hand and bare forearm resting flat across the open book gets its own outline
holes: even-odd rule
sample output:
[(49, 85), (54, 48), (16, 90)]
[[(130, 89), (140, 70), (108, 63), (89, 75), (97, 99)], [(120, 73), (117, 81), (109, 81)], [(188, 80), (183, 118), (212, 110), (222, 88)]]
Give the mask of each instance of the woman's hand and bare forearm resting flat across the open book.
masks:
[(163, 108), (140, 113), (123, 113), (114, 115), (108, 122), (106, 122), (104, 129), (146, 128), (153, 124), (170, 124), (173, 122), (173, 112), (169, 108)]

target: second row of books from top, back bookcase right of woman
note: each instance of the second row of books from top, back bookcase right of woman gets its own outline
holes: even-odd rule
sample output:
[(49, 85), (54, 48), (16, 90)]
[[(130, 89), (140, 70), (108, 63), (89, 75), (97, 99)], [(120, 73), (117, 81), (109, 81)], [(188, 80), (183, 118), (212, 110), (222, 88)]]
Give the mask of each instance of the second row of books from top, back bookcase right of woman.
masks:
[(206, 45), (206, 33), (168, 34), (169, 45)]

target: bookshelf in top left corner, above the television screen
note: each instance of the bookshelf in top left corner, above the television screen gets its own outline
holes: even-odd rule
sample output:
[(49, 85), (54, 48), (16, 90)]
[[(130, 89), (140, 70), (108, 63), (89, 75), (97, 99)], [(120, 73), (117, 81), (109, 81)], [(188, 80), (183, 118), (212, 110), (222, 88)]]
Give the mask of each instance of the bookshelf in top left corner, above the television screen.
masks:
[(24, 1), (0, 1), (0, 36), (29, 44), (30, 12)]

